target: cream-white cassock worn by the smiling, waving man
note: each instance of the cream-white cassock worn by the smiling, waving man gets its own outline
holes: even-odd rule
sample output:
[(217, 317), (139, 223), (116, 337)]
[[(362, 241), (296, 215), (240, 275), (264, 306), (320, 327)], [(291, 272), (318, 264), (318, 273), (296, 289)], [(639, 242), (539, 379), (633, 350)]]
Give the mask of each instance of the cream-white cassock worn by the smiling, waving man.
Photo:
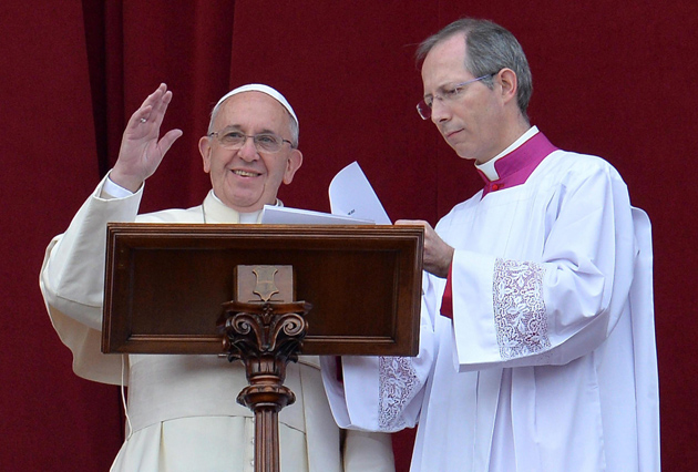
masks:
[[(254, 413), (235, 401), (247, 386), (240, 362), (216, 356), (122, 357), (100, 351), (107, 222), (240, 223), (245, 215), (225, 206), (212, 191), (201, 206), (136, 216), (143, 187), (114, 198), (103, 192), (105, 184), (106, 177), (65, 234), (49, 245), (40, 285), (53, 326), (73, 352), (75, 373), (129, 386), (127, 438), (112, 471), (253, 471)], [(285, 384), (296, 393), (296, 403), (279, 414), (284, 472), (394, 470), (389, 435), (347, 432), (342, 438), (317, 357), (290, 363)]]

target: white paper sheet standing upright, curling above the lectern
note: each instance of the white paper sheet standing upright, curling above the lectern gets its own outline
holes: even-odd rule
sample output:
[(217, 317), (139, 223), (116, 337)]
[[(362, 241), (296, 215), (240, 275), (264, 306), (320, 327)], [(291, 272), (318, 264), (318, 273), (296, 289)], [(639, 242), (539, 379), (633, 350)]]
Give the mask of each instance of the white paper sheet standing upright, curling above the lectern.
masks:
[(329, 186), (329, 199), (333, 215), (368, 219), (378, 225), (392, 224), (356, 161), (335, 175)]

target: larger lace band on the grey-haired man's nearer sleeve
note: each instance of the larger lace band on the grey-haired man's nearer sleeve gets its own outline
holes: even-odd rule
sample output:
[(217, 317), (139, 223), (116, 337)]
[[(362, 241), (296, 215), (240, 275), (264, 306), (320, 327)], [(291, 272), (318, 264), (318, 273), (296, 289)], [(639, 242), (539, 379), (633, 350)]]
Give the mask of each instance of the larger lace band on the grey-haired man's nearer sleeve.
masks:
[(502, 359), (544, 351), (547, 336), (543, 275), (535, 263), (496, 259), (494, 264), (494, 322)]

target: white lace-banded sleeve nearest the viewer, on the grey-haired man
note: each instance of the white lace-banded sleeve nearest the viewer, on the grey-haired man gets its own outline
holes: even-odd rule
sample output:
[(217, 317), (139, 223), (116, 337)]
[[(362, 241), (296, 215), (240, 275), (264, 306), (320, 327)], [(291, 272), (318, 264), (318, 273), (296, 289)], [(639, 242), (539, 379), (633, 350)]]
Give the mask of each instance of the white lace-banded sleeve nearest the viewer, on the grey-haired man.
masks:
[(615, 170), (571, 177), (545, 211), (544, 243), (530, 260), (455, 250), (460, 371), (567, 363), (597, 348), (628, 309), (636, 246)]

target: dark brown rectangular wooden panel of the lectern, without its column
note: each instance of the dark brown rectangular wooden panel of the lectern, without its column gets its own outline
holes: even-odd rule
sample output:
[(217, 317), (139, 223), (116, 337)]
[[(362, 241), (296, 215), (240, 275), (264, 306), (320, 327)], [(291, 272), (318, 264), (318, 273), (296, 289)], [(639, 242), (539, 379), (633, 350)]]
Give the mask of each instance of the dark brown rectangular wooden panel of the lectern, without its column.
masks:
[(103, 352), (220, 353), (238, 265), (291, 265), (304, 355), (415, 356), (420, 226), (112, 223)]

